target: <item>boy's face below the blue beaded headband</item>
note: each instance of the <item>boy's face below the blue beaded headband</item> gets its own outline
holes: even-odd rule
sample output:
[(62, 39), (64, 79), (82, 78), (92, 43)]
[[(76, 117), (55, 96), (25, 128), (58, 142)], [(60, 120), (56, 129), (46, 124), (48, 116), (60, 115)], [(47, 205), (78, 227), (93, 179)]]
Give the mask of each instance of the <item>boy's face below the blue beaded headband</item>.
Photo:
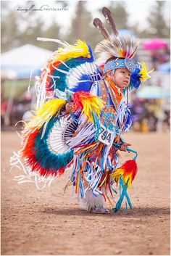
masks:
[(114, 72), (114, 84), (119, 88), (127, 88), (130, 84), (131, 72), (126, 67), (117, 68)]

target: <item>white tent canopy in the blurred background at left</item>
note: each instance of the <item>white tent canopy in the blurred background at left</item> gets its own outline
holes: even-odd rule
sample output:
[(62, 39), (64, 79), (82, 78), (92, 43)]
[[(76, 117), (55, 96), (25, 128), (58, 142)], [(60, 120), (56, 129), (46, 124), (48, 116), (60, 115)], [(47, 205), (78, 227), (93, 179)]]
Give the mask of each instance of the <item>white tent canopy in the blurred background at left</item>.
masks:
[(17, 49), (1, 54), (1, 73), (7, 78), (29, 78), (30, 73), (37, 75), (51, 56), (49, 50), (25, 44)]

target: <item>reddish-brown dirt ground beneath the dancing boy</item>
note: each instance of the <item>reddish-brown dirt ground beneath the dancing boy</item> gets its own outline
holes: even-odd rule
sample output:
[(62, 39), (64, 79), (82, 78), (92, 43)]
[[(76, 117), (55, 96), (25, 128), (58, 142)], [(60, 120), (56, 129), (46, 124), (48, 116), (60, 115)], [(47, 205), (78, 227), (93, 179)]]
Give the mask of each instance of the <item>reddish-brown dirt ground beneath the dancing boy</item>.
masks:
[(66, 176), (51, 191), (18, 185), (13, 178), (22, 171), (9, 173), (9, 157), (20, 138), (2, 132), (1, 255), (170, 255), (169, 134), (129, 133), (125, 139), (138, 150), (133, 210), (95, 215), (80, 209), (71, 189), (64, 194)]

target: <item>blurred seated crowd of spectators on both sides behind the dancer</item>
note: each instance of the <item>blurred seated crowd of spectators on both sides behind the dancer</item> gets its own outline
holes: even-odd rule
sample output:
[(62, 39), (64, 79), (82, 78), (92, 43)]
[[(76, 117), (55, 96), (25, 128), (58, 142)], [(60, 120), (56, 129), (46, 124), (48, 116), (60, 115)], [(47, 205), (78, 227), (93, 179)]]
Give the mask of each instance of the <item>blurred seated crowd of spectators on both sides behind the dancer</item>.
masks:
[[(1, 102), (1, 128), (13, 126), (23, 120), (32, 109), (32, 99), (14, 100), (11, 109), (8, 110), (8, 101)], [(164, 106), (164, 107), (163, 107)], [(159, 120), (162, 120), (164, 131), (170, 129), (170, 107), (164, 104), (163, 99), (135, 99), (130, 101), (130, 111), (133, 116), (132, 131), (149, 132), (157, 131)]]

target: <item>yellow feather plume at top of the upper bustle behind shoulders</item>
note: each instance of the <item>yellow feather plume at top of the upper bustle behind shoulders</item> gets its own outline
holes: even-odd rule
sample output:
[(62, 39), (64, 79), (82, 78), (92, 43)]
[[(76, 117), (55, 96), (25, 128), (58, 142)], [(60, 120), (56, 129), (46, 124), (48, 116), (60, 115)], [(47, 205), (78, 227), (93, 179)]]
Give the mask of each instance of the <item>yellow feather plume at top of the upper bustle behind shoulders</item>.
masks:
[(86, 57), (91, 58), (91, 54), (88, 49), (86, 42), (78, 40), (76, 44), (68, 45), (65, 48), (59, 48), (57, 54), (54, 56), (52, 63), (62, 60), (63, 62), (68, 59)]

